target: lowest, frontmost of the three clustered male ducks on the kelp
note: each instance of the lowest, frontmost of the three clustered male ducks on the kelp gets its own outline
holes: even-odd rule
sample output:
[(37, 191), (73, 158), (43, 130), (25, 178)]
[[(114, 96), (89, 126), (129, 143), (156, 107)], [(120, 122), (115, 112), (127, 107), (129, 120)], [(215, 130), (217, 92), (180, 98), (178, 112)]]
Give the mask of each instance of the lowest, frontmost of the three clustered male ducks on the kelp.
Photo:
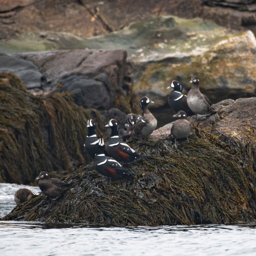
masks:
[(105, 156), (104, 140), (102, 138), (99, 139), (98, 150), (94, 157), (94, 168), (100, 174), (112, 178), (120, 179), (132, 175), (115, 159)]

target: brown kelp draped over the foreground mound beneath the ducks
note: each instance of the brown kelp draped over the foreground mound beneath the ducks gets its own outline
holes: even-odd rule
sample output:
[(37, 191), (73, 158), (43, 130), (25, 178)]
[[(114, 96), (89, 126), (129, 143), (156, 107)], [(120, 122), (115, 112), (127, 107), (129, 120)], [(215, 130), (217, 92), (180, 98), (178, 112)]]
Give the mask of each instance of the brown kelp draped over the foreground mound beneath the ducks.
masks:
[(92, 163), (81, 166), (63, 178), (71, 188), (62, 198), (34, 196), (3, 220), (125, 226), (255, 221), (252, 145), (199, 128), (178, 149), (171, 137), (128, 143), (149, 156), (124, 164), (133, 178), (110, 182)]

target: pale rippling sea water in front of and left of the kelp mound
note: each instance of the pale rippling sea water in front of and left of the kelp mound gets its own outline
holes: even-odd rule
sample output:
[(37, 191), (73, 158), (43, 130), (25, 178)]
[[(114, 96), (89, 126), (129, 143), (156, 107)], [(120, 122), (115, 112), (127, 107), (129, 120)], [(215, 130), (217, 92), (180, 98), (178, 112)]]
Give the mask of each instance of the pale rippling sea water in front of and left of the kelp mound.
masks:
[[(27, 187), (0, 184), (0, 214)], [(107, 227), (0, 221), (0, 255), (256, 255), (256, 227), (231, 225)]]

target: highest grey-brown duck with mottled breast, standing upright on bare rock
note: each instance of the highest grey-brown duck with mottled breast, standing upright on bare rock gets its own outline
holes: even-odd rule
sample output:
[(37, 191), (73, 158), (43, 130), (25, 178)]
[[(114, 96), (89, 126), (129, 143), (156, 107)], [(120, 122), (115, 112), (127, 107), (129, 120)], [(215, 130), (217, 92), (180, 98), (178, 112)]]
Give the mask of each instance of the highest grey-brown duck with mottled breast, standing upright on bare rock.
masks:
[(197, 76), (192, 76), (190, 83), (193, 84), (193, 87), (188, 92), (187, 102), (189, 108), (197, 115), (206, 115), (214, 113), (214, 109), (211, 107), (210, 100), (200, 92), (199, 90), (199, 79)]

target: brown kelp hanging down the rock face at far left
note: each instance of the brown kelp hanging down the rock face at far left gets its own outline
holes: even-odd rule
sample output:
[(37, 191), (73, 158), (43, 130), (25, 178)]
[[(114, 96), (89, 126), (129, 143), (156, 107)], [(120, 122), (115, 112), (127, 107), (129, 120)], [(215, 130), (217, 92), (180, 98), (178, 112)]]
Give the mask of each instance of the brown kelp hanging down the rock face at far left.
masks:
[[(60, 176), (88, 163), (88, 118), (71, 95), (33, 95), (17, 76), (1, 73), (0, 182), (31, 184), (40, 171)], [(103, 126), (100, 116), (95, 122)]]

